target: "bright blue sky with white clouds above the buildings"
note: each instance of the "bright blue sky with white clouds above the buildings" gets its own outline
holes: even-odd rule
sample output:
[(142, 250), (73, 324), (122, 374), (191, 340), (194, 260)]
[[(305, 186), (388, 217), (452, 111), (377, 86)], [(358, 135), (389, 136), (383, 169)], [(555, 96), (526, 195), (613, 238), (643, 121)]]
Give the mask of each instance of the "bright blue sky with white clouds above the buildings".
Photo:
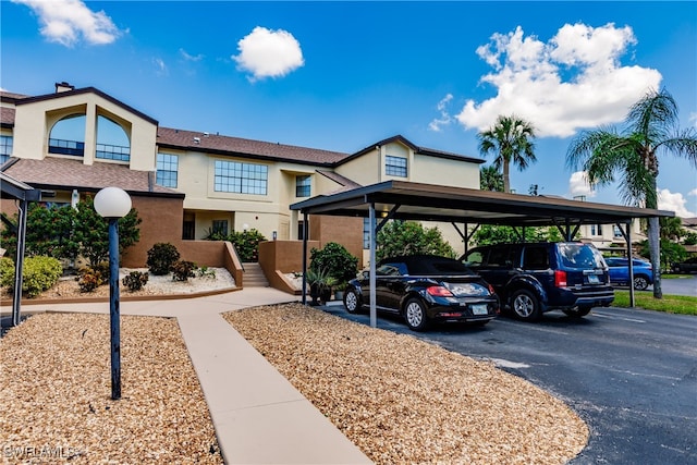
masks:
[[(0, 87), (97, 87), (160, 125), (354, 152), (401, 134), (481, 157), (499, 114), (536, 129), (511, 185), (620, 204), (566, 168), (571, 138), (667, 88), (697, 127), (697, 2), (2, 0)], [(491, 160), (487, 160), (489, 163)], [(661, 156), (660, 208), (697, 216)]]

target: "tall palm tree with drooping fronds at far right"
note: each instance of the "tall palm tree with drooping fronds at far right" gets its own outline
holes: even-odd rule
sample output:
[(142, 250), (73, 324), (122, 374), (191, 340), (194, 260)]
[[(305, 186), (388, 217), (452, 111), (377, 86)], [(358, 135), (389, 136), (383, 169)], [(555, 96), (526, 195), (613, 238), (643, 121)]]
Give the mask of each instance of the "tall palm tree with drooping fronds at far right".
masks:
[[(697, 167), (697, 134), (694, 127), (680, 130), (677, 105), (665, 89), (648, 91), (632, 106), (624, 123), (621, 133), (613, 127), (580, 133), (568, 147), (566, 164), (584, 170), (590, 185), (608, 185), (617, 173), (625, 204), (658, 208), (658, 154), (684, 157)], [(653, 296), (662, 298), (658, 218), (649, 218), (648, 240)]]

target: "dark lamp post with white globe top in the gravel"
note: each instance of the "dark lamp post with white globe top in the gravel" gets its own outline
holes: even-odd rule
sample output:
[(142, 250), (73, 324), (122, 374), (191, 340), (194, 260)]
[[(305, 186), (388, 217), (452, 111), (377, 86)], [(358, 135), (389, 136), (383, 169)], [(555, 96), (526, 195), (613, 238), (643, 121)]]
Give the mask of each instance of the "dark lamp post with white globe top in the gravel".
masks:
[(111, 399), (121, 399), (121, 329), (119, 321), (119, 218), (131, 211), (131, 197), (119, 187), (95, 196), (95, 210), (109, 220), (109, 316), (111, 327)]

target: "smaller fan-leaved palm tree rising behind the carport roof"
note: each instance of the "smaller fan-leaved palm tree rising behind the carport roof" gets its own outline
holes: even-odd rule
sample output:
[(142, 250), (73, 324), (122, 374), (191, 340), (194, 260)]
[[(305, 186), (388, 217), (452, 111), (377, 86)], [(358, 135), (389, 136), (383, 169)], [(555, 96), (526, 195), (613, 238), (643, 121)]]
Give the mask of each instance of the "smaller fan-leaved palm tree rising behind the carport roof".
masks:
[(493, 167), (501, 171), (503, 168), (503, 192), (511, 192), (509, 176), (510, 164), (518, 167), (519, 171), (537, 161), (535, 145), (529, 140), (535, 138), (533, 125), (515, 115), (497, 118), (492, 127), (477, 134), (479, 152), (485, 157), (496, 152)]

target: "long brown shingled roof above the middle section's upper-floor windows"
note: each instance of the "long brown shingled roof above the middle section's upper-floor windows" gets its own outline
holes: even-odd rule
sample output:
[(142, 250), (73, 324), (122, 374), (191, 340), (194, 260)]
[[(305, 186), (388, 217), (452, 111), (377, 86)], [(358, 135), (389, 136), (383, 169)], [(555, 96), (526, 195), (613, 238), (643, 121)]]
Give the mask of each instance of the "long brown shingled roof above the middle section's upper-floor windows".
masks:
[(239, 155), (245, 158), (292, 161), (303, 164), (329, 167), (348, 157), (348, 154), (339, 151), (320, 150), (171, 127), (159, 127), (157, 136), (157, 144), (161, 148), (196, 150), (228, 156)]

